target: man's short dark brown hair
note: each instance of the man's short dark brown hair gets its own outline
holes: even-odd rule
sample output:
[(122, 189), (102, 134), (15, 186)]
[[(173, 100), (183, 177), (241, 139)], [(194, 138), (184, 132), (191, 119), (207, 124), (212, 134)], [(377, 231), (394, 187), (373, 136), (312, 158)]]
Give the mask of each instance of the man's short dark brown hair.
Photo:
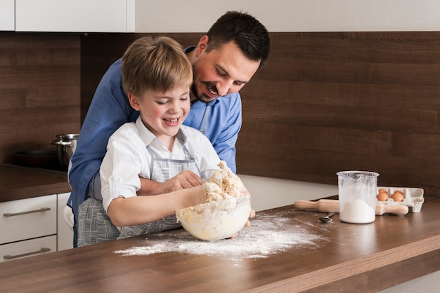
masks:
[(207, 52), (233, 41), (247, 58), (252, 61), (261, 60), (258, 69), (266, 64), (269, 56), (269, 34), (266, 27), (252, 15), (228, 11), (212, 25), (207, 36)]

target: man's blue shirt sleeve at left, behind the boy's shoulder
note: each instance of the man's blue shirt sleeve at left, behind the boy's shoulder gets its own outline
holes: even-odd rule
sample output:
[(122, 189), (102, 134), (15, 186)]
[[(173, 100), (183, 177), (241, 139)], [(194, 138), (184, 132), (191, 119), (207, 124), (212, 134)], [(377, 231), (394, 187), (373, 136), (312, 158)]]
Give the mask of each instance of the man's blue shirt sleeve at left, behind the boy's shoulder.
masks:
[[(134, 121), (137, 116), (122, 90), (122, 71), (118, 60), (110, 66), (96, 89), (71, 158), (69, 183), (74, 191), (72, 194), (78, 198), (78, 204), (89, 193), (89, 184), (100, 182), (99, 178), (94, 177), (101, 166), (110, 135), (122, 124)], [(91, 191), (96, 190), (94, 188)], [(99, 198), (101, 190), (98, 190)]]

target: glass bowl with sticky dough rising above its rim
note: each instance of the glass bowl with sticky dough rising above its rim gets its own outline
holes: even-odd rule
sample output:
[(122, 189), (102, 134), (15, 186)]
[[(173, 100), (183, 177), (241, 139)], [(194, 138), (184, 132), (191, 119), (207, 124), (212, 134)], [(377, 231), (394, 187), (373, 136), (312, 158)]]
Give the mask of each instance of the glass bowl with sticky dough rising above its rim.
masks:
[(250, 214), (250, 196), (245, 186), (224, 161), (203, 185), (209, 203), (176, 212), (183, 229), (201, 240), (219, 240), (238, 233)]

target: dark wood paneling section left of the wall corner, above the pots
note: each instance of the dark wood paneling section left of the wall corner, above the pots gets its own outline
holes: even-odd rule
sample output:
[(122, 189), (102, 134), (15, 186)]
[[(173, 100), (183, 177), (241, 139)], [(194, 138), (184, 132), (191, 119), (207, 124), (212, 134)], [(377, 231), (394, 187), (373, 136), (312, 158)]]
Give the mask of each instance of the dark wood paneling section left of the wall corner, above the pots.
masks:
[(0, 163), (80, 125), (79, 34), (0, 32)]

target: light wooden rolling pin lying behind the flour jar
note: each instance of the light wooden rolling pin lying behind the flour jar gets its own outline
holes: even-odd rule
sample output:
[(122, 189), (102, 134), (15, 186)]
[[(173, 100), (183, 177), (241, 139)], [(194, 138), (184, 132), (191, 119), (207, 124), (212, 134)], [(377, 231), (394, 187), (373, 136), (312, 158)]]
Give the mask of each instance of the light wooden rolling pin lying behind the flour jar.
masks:
[[(339, 200), (320, 199), (318, 201), (297, 200), (293, 207), (299, 210), (318, 210), (318, 212), (339, 212)], [(408, 214), (406, 205), (384, 205), (380, 201), (376, 202), (376, 216), (382, 216), (385, 213), (390, 214)]]

